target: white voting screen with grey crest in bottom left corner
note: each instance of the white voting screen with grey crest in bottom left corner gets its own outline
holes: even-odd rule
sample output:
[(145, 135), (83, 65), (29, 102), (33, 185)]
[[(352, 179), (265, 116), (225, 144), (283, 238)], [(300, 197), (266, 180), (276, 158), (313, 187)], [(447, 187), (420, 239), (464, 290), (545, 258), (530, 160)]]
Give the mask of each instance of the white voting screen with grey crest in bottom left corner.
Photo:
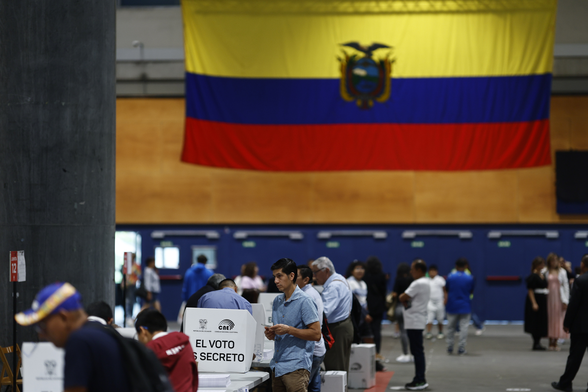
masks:
[(62, 392), (65, 351), (46, 341), (22, 343), (22, 390)]

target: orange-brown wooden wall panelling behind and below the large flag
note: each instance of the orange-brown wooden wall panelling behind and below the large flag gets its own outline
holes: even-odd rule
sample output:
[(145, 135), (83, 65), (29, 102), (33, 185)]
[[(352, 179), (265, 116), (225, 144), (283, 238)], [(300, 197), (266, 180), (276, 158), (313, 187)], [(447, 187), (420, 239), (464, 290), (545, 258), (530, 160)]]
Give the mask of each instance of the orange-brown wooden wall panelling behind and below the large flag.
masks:
[[(118, 99), (117, 223), (559, 222), (552, 166), (256, 172), (180, 162), (183, 99)], [(588, 149), (588, 97), (552, 98), (552, 150)], [(577, 222), (574, 221), (574, 222)]]

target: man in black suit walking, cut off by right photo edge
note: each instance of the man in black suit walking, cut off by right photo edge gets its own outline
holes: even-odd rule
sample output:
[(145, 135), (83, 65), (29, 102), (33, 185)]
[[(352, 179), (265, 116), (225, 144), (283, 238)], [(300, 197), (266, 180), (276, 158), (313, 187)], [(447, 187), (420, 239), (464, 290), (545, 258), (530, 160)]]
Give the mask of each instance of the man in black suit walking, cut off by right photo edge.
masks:
[(572, 392), (572, 380), (578, 373), (588, 347), (588, 253), (582, 257), (580, 269), (582, 275), (574, 280), (570, 303), (563, 320), (563, 330), (571, 334), (566, 371), (560, 377), (559, 383), (552, 383), (552, 387), (559, 391)]

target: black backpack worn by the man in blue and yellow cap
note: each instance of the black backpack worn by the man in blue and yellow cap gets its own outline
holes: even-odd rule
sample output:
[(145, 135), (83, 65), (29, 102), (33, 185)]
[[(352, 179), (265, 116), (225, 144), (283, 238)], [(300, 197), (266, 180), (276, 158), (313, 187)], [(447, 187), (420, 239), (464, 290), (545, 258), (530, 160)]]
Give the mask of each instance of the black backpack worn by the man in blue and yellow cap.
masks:
[(101, 329), (118, 342), (131, 392), (174, 392), (167, 371), (153, 351), (135, 339), (123, 337), (111, 326), (100, 323), (86, 326)]

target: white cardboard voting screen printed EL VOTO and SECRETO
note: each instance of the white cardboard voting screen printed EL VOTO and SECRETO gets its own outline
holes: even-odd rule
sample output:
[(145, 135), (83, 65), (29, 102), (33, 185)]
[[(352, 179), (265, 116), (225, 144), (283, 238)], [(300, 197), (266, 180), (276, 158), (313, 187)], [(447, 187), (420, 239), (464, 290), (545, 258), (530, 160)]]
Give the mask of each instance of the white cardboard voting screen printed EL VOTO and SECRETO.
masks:
[(183, 330), (198, 371), (245, 373), (255, 348), (255, 319), (248, 310), (187, 307)]

